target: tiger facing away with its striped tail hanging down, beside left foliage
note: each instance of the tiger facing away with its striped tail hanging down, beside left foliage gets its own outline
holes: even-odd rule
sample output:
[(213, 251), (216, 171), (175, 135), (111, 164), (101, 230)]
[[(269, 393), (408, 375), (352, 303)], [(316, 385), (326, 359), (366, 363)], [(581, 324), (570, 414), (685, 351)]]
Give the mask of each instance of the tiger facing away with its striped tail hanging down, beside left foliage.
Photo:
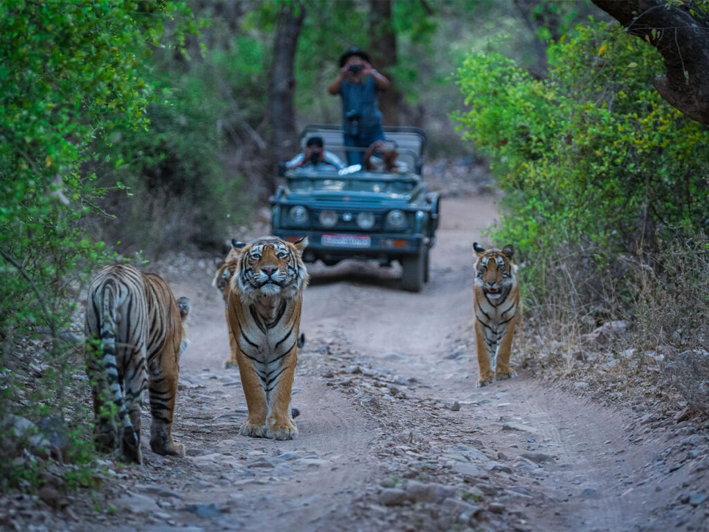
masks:
[(172, 439), (179, 358), (189, 340), (186, 297), (177, 299), (158, 275), (120, 264), (104, 267), (89, 285), (84, 358), (94, 400), (94, 441), (102, 452), (143, 462), (140, 413), (150, 390), (150, 448), (184, 456)]

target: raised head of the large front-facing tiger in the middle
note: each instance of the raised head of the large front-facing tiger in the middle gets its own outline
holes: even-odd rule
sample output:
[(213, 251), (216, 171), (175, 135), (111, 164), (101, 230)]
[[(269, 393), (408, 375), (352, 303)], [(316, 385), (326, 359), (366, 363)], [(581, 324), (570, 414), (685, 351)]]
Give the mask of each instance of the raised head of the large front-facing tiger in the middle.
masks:
[(232, 245), (238, 255), (238, 266), (230, 287), (240, 292), (242, 298), (291, 299), (307, 286), (308, 272), (302, 255), (308, 237), (290, 243), (264, 236), (247, 244), (232, 240)]

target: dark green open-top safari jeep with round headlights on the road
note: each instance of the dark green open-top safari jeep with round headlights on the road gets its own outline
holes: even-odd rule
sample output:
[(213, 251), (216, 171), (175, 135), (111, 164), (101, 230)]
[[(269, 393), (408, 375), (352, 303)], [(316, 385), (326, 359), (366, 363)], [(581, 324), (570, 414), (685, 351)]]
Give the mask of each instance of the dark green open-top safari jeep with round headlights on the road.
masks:
[[(362, 165), (337, 170), (333, 165), (306, 165), (287, 170), (271, 196), (272, 234), (291, 242), (308, 236), (303, 260), (335, 265), (343, 259), (401, 263), (401, 287), (419, 292), (428, 282), (429, 253), (435, 243), (440, 195), (423, 182), (425, 135), (419, 128), (385, 127), (393, 143), (396, 172), (368, 171)], [(301, 148), (313, 136), (325, 150), (346, 160), (340, 126), (306, 126)], [(364, 150), (359, 150), (364, 151)]]

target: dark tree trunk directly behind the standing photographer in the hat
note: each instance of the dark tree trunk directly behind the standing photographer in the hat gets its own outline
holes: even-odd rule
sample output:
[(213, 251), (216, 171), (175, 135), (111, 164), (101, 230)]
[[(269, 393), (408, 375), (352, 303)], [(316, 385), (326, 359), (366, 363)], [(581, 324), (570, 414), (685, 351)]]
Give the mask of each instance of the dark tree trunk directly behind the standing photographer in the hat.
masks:
[(391, 86), (379, 94), (379, 109), (386, 126), (398, 126), (401, 92), (396, 87), (390, 67), (396, 66), (396, 33), (391, 18), (391, 0), (369, 0), (369, 54), (372, 67), (381, 71)]

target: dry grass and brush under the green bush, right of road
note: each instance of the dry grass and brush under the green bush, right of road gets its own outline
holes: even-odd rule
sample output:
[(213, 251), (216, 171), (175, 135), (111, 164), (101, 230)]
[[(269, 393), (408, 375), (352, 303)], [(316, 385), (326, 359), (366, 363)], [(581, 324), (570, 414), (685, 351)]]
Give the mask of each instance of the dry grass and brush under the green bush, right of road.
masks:
[(557, 253), (527, 297), (525, 365), (601, 399), (644, 396), (706, 415), (709, 240), (668, 243), (652, 259), (650, 267), (623, 255), (597, 270), (587, 257)]

